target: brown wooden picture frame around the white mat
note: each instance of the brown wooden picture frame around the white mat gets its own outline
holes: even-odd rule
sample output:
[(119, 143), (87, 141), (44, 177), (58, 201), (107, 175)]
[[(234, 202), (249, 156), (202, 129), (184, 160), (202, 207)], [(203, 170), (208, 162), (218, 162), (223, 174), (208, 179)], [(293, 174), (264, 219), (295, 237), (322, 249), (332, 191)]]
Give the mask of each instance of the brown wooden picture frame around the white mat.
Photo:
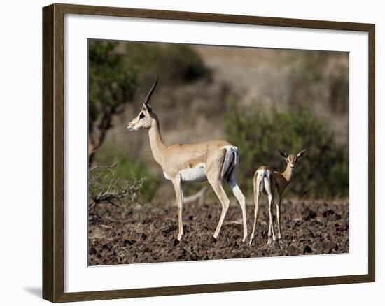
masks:
[[(364, 31), (369, 36), (368, 274), (64, 293), (64, 14)], [(375, 281), (374, 24), (52, 4), (43, 8), (43, 298), (52, 302), (318, 286)]]

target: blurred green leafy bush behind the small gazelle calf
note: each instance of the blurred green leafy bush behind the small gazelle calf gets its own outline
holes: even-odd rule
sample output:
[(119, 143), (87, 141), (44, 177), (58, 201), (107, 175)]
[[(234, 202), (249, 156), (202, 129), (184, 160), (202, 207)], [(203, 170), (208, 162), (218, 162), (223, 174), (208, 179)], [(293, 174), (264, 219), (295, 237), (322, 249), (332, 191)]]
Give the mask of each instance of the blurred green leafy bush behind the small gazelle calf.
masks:
[(348, 147), (337, 145), (323, 122), (306, 108), (269, 112), (255, 106), (238, 110), (233, 105), (225, 116), (230, 141), (239, 147), (239, 182), (252, 190), (255, 170), (269, 165), (283, 172), (286, 162), (278, 150), (297, 154), (307, 150), (297, 163), (288, 193), (297, 196), (343, 197), (349, 191)]

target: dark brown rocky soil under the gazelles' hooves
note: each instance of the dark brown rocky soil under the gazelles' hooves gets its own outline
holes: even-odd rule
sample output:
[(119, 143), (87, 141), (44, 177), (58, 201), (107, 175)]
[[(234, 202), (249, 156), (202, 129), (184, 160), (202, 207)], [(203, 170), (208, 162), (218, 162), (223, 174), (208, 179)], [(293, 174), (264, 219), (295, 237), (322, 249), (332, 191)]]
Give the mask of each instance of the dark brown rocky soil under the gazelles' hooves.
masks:
[[(248, 235), (253, 205), (247, 205)], [(258, 210), (253, 245), (242, 242), (241, 208), (232, 201), (222, 230), (212, 235), (221, 214), (219, 203), (183, 207), (185, 235), (176, 240), (176, 207), (146, 203), (120, 208), (99, 205), (89, 221), (89, 265), (197, 261), (205, 259), (292, 256), (349, 252), (349, 203), (283, 201), (282, 240), (267, 245), (267, 204)], [(99, 217), (97, 217), (99, 216)], [(276, 226), (274, 219), (274, 226)], [(276, 227), (275, 227), (276, 228)], [(277, 230), (276, 230), (277, 231)]]

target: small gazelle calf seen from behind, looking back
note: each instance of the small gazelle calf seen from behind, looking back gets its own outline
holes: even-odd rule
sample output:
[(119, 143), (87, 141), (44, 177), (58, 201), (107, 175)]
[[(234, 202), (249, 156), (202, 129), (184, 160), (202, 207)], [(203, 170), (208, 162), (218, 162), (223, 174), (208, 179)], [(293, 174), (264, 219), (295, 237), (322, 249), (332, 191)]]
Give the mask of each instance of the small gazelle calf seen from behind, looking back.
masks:
[(254, 225), (253, 232), (251, 233), (250, 244), (253, 242), (253, 238), (255, 235), (255, 224), (257, 223), (257, 214), (258, 214), (258, 201), (260, 194), (267, 194), (267, 198), (269, 200), (269, 240), (267, 243), (270, 243), (271, 237), (273, 235), (273, 240), (276, 240), (274, 233), (274, 225), (273, 225), (273, 215), (272, 215), (272, 204), (276, 203), (276, 219), (278, 224), (278, 239), (281, 239), (281, 200), (283, 191), (288, 187), (290, 183), (295, 163), (297, 163), (298, 159), (304, 155), (306, 150), (302, 150), (297, 155), (294, 154), (286, 154), (282, 152), (281, 156), (286, 160), (287, 166), (286, 170), (283, 173), (279, 173), (277, 171), (272, 170), (269, 166), (261, 166), (255, 171), (255, 175), (253, 178), (253, 187), (254, 187), (254, 201), (255, 201), (255, 210), (254, 210)]

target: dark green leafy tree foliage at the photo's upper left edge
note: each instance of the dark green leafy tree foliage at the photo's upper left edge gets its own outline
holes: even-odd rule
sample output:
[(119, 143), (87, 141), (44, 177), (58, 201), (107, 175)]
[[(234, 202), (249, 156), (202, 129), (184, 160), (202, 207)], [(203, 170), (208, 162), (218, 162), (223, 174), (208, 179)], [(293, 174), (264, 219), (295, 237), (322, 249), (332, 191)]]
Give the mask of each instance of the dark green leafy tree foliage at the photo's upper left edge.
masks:
[(113, 116), (132, 100), (138, 72), (117, 52), (115, 41), (90, 41), (88, 45), (88, 149), (89, 163), (111, 129)]

